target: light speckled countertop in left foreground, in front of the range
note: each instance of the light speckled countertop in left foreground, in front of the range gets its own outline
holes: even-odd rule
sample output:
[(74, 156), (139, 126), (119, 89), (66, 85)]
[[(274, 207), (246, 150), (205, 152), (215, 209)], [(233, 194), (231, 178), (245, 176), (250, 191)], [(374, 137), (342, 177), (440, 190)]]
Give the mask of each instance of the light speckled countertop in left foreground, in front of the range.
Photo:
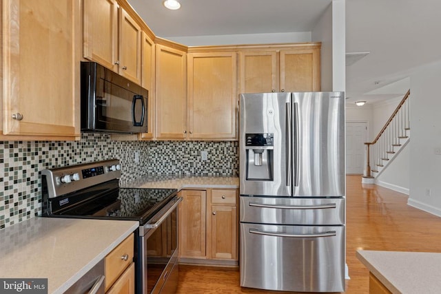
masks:
[(19, 222), (0, 230), (0, 277), (48, 278), (48, 293), (63, 293), (138, 227), (128, 220)]

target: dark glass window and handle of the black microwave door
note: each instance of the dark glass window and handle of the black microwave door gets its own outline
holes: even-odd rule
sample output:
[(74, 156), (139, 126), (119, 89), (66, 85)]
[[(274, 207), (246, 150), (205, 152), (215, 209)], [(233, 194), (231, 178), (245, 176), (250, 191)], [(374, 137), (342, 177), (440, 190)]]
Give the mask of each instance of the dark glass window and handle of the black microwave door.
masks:
[(139, 132), (145, 120), (145, 97), (101, 79), (103, 92), (96, 96), (99, 129)]

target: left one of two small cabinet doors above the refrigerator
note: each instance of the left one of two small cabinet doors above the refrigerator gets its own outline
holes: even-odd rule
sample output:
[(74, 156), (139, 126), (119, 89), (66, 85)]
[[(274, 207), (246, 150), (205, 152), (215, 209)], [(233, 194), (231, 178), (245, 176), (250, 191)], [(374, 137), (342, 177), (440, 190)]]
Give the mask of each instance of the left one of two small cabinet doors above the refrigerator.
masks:
[(240, 52), (240, 93), (278, 92), (277, 53)]

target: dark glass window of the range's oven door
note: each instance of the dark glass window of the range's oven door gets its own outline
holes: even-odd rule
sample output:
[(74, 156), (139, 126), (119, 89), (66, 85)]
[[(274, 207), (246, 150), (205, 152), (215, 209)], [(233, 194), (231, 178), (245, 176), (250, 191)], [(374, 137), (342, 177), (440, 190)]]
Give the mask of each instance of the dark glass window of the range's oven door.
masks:
[[(176, 209), (147, 239), (147, 293), (152, 293), (158, 283), (167, 263), (177, 250)], [(159, 285), (158, 285), (159, 286)]]

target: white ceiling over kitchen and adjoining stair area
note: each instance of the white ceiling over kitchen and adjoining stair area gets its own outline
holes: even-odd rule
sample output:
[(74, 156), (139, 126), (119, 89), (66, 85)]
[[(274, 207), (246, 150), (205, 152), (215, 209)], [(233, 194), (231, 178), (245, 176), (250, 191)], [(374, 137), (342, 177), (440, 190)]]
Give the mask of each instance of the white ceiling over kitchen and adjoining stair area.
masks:
[[(331, 0), (180, 1), (181, 9), (172, 11), (163, 7), (163, 0), (128, 0), (152, 31), (166, 39), (309, 32), (331, 3)], [(382, 90), (382, 94), (376, 94), (374, 90), (406, 78), (420, 65), (441, 59), (440, 12), (440, 0), (346, 0), (346, 50), (369, 52), (347, 66), (350, 97), (347, 101), (374, 103), (395, 98), (398, 93)], [(396, 87), (384, 87), (389, 88), (397, 92)]]

